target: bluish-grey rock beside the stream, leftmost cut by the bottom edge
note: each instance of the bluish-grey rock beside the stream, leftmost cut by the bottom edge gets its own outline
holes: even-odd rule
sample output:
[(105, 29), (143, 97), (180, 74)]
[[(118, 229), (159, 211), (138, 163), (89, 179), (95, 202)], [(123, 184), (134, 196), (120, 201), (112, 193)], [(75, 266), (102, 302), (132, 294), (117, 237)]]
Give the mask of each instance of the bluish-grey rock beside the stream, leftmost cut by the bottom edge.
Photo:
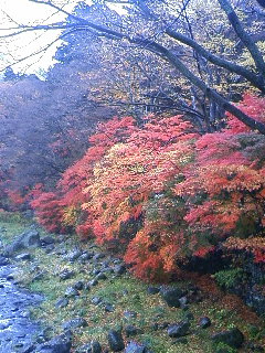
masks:
[(71, 334), (60, 334), (36, 347), (38, 353), (70, 353), (71, 352)]

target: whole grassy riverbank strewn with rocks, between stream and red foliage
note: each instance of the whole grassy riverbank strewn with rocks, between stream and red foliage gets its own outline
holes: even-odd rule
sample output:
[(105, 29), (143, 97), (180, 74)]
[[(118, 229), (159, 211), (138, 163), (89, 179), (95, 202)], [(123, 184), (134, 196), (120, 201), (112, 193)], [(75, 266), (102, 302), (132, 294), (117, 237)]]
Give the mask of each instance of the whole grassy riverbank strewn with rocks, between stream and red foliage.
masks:
[[(12, 242), (30, 225), (14, 215), (0, 220), (2, 240)], [(47, 342), (71, 331), (72, 352), (263, 352), (264, 321), (210, 277), (144, 284), (93, 242), (33, 227), (41, 246), (12, 261), (20, 268), (15, 280), (45, 298), (32, 307), (31, 318), (42, 322)]]

